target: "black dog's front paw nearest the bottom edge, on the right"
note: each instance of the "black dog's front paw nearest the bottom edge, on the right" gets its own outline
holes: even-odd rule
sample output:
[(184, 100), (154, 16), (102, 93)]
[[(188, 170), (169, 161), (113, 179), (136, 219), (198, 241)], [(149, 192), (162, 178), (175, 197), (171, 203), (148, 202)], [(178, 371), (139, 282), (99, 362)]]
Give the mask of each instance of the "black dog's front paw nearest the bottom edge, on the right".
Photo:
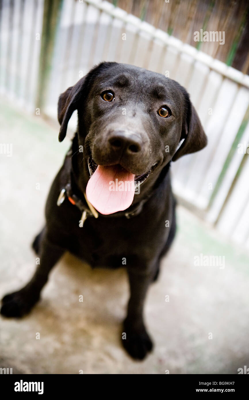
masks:
[(153, 343), (146, 330), (139, 333), (129, 330), (125, 333), (126, 338), (122, 340), (125, 350), (135, 360), (143, 360), (153, 348)]

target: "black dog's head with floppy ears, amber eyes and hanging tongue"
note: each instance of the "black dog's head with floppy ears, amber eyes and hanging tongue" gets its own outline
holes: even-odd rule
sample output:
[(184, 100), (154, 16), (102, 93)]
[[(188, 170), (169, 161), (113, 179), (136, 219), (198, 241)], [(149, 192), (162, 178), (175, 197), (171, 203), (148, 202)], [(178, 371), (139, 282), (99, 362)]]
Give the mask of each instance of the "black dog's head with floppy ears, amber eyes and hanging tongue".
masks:
[(151, 186), (171, 160), (207, 144), (186, 90), (143, 68), (104, 62), (62, 93), (60, 142), (74, 110), (85, 161), (79, 174), (89, 169), (86, 193), (102, 214), (128, 208), (135, 185)]

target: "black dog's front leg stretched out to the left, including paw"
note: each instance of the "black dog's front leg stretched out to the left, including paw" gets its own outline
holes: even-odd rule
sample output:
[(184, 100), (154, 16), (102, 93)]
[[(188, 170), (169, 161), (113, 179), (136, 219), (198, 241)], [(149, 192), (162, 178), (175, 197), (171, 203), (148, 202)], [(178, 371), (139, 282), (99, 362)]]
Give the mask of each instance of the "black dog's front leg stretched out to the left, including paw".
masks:
[(21, 317), (27, 314), (38, 302), (40, 292), (48, 280), (48, 274), (64, 253), (64, 249), (53, 244), (44, 232), (40, 245), (40, 265), (30, 282), (24, 288), (11, 294), (7, 294), (2, 299), (1, 314), (6, 317)]

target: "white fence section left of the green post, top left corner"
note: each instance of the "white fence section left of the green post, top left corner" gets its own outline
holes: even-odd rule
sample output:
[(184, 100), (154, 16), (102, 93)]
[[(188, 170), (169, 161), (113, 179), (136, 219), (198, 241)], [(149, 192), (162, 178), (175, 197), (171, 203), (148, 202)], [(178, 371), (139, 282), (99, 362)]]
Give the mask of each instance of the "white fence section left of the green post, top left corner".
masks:
[(42, 16), (43, 0), (2, 1), (0, 93), (30, 112), (36, 102)]

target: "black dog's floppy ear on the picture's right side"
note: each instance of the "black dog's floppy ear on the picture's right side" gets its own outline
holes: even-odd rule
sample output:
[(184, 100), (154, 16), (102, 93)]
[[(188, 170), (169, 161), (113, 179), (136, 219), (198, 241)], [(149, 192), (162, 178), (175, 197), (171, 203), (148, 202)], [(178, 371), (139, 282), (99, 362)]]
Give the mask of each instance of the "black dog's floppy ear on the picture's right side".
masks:
[(186, 104), (187, 112), (185, 120), (182, 125), (181, 140), (183, 140), (181, 146), (174, 154), (172, 160), (178, 160), (185, 154), (194, 153), (203, 149), (207, 145), (207, 136), (201, 126), (201, 121), (197, 115), (197, 112), (189, 100), (189, 96), (186, 93)]

